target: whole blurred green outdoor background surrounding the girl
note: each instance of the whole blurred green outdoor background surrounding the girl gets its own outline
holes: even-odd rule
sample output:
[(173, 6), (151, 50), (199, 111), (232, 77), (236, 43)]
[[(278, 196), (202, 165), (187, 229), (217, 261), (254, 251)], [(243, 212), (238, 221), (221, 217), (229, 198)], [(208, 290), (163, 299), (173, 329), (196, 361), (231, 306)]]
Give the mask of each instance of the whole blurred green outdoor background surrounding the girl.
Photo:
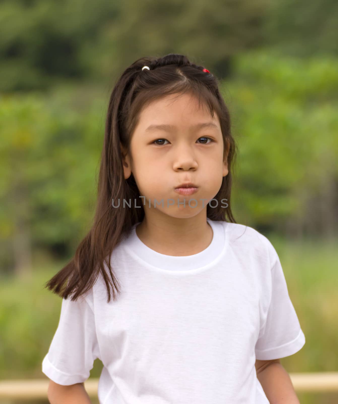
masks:
[(282, 365), (336, 371), (338, 2), (1, 0), (0, 26), (0, 379), (46, 380), (61, 299), (44, 284), (90, 228), (109, 95), (167, 53), (221, 80), (234, 215), (275, 246), (306, 337)]

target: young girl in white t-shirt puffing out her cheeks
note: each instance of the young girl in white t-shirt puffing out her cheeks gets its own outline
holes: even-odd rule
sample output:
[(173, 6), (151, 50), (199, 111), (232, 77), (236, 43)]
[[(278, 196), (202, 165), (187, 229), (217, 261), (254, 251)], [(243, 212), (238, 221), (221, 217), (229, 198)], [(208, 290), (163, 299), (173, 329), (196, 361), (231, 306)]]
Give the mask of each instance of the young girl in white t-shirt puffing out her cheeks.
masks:
[(63, 298), (42, 362), (52, 404), (90, 403), (96, 358), (100, 404), (298, 403), (279, 358), (305, 336), (275, 248), (232, 215), (218, 85), (176, 54), (117, 81), (94, 224), (46, 284)]

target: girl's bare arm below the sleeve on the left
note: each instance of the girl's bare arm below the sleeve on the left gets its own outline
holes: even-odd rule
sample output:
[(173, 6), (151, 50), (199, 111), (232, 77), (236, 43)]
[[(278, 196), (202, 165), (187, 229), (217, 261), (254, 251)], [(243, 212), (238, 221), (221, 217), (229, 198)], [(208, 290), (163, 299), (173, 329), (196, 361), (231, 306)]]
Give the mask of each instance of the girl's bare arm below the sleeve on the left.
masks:
[(84, 383), (63, 386), (50, 380), (48, 385), (50, 404), (92, 404)]

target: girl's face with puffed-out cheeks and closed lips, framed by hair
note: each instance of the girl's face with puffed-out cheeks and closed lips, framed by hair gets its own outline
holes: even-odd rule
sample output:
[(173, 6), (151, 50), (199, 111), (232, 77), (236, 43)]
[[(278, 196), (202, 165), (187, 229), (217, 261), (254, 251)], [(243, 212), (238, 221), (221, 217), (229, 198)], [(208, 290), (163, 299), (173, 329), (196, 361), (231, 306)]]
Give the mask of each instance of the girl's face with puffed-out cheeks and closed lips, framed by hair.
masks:
[[(133, 164), (127, 155), (124, 172), (125, 178), (133, 173), (145, 211), (149, 206), (153, 210), (156, 203), (157, 213), (187, 218), (206, 210), (219, 191), (228, 174), (227, 153), (223, 161), (217, 114), (212, 119), (206, 106), (198, 109), (192, 95), (181, 95), (175, 101), (173, 97), (163, 97), (142, 110), (131, 137)], [(194, 194), (175, 191), (188, 182), (198, 187)]]

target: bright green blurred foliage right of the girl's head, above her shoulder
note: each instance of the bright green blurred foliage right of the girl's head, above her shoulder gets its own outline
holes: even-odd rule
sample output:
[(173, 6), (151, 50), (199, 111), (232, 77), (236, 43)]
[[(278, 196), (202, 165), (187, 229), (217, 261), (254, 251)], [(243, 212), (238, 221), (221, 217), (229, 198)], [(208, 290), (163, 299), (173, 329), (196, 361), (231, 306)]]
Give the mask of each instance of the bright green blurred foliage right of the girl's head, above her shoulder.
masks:
[(338, 230), (338, 59), (246, 52), (223, 82), (240, 145), (240, 222), (295, 236)]

